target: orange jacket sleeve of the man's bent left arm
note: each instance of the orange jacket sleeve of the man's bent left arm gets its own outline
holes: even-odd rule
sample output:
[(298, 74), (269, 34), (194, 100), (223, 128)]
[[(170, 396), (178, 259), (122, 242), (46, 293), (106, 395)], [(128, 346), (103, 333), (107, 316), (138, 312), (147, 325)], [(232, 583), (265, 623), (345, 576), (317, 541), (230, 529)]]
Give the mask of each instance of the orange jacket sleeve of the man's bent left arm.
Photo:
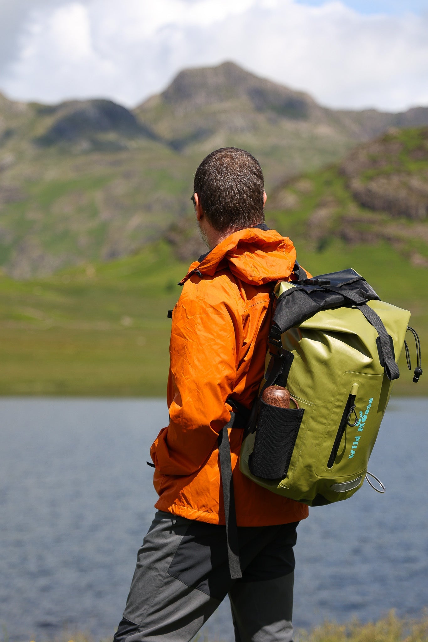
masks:
[(214, 286), (210, 279), (198, 277), (187, 281), (173, 311), (169, 425), (150, 451), (162, 474), (198, 471), (230, 419), (225, 401), (234, 388), (242, 320), (230, 285), (210, 284)]

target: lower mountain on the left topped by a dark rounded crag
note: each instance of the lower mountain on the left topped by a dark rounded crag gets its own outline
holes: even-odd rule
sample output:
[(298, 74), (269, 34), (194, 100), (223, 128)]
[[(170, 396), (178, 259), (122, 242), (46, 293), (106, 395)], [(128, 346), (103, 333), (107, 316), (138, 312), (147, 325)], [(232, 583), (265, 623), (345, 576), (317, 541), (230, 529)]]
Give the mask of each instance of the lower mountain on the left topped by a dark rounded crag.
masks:
[(2, 98), (0, 141), (0, 265), (15, 278), (130, 254), (186, 211), (190, 166), (112, 101)]

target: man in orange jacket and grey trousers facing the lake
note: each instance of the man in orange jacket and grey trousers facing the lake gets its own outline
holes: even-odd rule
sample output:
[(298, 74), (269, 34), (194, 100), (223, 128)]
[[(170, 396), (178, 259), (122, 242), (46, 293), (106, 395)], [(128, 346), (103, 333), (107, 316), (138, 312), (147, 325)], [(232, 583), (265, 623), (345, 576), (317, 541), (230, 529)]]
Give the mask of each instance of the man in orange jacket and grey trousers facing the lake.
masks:
[(196, 170), (192, 200), (210, 251), (190, 266), (172, 313), (169, 425), (151, 447), (158, 512), (115, 639), (189, 642), (228, 594), (236, 640), (290, 642), (293, 546), (307, 507), (241, 474), (243, 431), (231, 428), (243, 573), (232, 580), (218, 438), (232, 410), (257, 398), (273, 286), (294, 278), (296, 252), (264, 225), (263, 174), (250, 153), (210, 153)]

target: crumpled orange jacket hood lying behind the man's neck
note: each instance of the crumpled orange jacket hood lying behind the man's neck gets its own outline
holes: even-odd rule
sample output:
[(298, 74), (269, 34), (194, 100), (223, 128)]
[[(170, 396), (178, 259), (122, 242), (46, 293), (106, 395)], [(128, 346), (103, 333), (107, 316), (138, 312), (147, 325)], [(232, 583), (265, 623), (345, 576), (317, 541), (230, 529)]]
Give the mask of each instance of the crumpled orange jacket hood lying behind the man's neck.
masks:
[(201, 261), (194, 261), (180, 285), (193, 274), (214, 276), (229, 269), (241, 281), (262, 285), (287, 279), (296, 262), (296, 250), (288, 237), (275, 230), (248, 227), (230, 234)]

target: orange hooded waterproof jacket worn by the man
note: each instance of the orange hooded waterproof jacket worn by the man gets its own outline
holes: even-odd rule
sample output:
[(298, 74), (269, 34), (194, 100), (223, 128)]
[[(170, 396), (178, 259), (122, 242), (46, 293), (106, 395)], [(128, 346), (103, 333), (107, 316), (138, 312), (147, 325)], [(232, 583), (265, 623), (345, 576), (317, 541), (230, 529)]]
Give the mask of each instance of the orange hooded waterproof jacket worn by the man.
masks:
[[(296, 250), (274, 230), (234, 232), (192, 263), (173, 309), (167, 386), (169, 426), (151, 447), (158, 510), (224, 524), (218, 433), (229, 395), (247, 408), (264, 374), (273, 281), (289, 279)], [(196, 271), (197, 270), (197, 271)], [(239, 471), (243, 431), (229, 430), (238, 526), (286, 524), (307, 506), (274, 494)]]

